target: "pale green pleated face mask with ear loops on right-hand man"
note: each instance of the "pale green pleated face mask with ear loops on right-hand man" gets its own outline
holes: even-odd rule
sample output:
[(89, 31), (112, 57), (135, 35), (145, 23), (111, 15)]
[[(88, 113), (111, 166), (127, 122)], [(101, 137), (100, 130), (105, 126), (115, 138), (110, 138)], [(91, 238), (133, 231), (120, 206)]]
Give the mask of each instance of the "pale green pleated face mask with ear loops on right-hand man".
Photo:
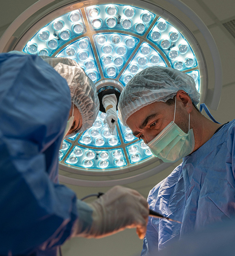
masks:
[(189, 129), (190, 113), (188, 121), (188, 133), (183, 132), (175, 122), (176, 101), (174, 120), (171, 121), (153, 140), (147, 145), (155, 157), (163, 162), (176, 162), (191, 154), (194, 149), (193, 129)]

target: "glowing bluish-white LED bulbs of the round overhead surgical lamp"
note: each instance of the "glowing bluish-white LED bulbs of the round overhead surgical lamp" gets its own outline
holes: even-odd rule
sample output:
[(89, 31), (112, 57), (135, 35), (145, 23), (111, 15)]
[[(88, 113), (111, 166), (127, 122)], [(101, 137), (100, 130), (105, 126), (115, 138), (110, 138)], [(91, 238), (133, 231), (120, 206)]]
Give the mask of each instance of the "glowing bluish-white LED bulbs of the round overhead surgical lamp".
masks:
[[(115, 79), (123, 86), (147, 67), (170, 66), (192, 76), (199, 90), (196, 57), (184, 36), (163, 18), (133, 6), (102, 4), (66, 13), (41, 28), (23, 52), (71, 58), (94, 83)], [(103, 123), (105, 115), (99, 112), (90, 129), (64, 140), (59, 161), (100, 171), (152, 156), (148, 146), (120, 122), (117, 135), (111, 135)]]

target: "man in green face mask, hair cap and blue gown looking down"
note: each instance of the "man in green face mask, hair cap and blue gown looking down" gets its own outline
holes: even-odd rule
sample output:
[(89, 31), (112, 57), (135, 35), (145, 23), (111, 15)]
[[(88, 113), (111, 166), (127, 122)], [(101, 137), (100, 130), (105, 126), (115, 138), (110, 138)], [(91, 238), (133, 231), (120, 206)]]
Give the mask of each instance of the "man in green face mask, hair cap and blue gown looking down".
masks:
[[(182, 222), (149, 218), (141, 255), (166, 248), (188, 232), (235, 216), (235, 120), (220, 124), (196, 107), (189, 75), (149, 67), (119, 99), (119, 118), (163, 162), (183, 162), (149, 193), (151, 210)], [(200, 110), (201, 110), (200, 108)]]

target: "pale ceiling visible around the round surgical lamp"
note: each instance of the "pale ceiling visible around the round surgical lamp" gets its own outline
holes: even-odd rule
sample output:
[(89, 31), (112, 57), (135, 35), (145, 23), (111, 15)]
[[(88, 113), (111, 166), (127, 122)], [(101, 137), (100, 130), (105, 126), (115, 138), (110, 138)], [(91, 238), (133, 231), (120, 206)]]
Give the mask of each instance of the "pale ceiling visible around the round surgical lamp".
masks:
[[(2, 1), (0, 8), (0, 36), (4, 33), (11, 22), (35, 0), (7, 0)], [(115, 3), (114, 1), (112, 1)], [(224, 28), (223, 23), (235, 19), (235, 1), (234, 0), (184, 0), (205, 23), (217, 44), (223, 70), (223, 89), (221, 102), (217, 111), (211, 111), (217, 121), (225, 123), (234, 118), (235, 112), (235, 38)], [(194, 31), (196, 34), (197, 31)], [(200, 35), (198, 35), (200, 36)], [(204, 52), (204, 54), (206, 54)], [(145, 180), (126, 185), (137, 189), (147, 198), (149, 190), (159, 181), (166, 177), (177, 166), (176, 163), (167, 170), (158, 173)], [(106, 191), (108, 188), (87, 188), (68, 185), (76, 191), (78, 198), (97, 191)], [(135, 230), (125, 230), (114, 236), (101, 240), (72, 239), (67, 241), (62, 247), (63, 255), (96, 255), (96, 256), (137, 256), (140, 255), (142, 241), (140, 241)]]

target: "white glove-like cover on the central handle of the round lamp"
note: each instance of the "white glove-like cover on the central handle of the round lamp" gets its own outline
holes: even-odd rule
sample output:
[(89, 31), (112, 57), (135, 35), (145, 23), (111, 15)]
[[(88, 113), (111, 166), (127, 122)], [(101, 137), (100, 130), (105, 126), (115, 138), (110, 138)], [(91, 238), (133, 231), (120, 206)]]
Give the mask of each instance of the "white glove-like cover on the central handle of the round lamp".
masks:
[[(102, 104), (104, 106), (107, 116), (104, 119), (104, 124), (107, 123), (108, 130), (111, 134), (116, 134), (115, 126), (118, 122), (118, 115), (116, 111), (116, 105), (118, 103), (117, 97), (115, 94), (107, 94), (102, 98)], [(112, 119), (114, 122), (112, 123)]]

